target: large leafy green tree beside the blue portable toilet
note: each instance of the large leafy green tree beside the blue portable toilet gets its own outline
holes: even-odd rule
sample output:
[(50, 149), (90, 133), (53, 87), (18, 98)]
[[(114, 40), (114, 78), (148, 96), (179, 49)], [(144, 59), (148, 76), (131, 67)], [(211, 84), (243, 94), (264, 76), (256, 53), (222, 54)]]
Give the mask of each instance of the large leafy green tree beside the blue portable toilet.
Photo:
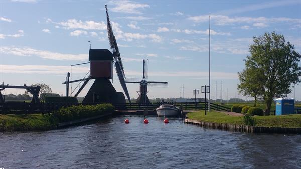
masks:
[(298, 80), (301, 55), (283, 35), (275, 32), (254, 36), (249, 49), (251, 55), (245, 60), (245, 72), (239, 73), (241, 83), (238, 87), (250, 95), (253, 88), (258, 88), (257, 94), (265, 103), (264, 115), (269, 115), (273, 99), (290, 93), (290, 85), (301, 82)]

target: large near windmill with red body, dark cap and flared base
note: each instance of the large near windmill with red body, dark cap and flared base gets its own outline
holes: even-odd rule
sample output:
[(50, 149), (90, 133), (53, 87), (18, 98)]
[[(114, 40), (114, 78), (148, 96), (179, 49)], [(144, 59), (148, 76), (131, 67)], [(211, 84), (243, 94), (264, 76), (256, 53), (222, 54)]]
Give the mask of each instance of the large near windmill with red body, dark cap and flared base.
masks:
[[(70, 73), (67, 74), (66, 82), (66, 96), (72, 95), (75, 91), (69, 95), (69, 83), (80, 82), (78, 84), (78, 91), (74, 95), (77, 97), (78, 94), (82, 91), (82, 89), (86, 86), (86, 84), (91, 79), (95, 79), (93, 85), (89, 89), (86, 97), (83, 100), (83, 103), (97, 103), (97, 102), (109, 102), (109, 103), (125, 103), (125, 97), (122, 92), (116, 92), (115, 88), (111, 84), (109, 79), (113, 78), (112, 67), (113, 63), (115, 65), (116, 73), (120, 84), (123, 88), (123, 91), (130, 102), (129, 93), (125, 84), (125, 74), (123, 70), (123, 64), (121, 61), (120, 52), (117, 46), (116, 38), (113, 34), (112, 26), (109, 20), (107, 6), (106, 9), (106, 17), (107, 17), (107, 30), (108, 30), (108, 39), (110, 43), (111, 51), (107, 49), (91, 49), (89, 50), (89, 61), (90, 63), (90, 71), (85, 75), (84, 78), (79, 80), (69, 81)], [(82, 64), (87, 64), (82, 63)], [(76, 64), (81, 65), (81, 64)], [(75, 65), (71, 65), (75, 66)], [(80, 87), (81, 82), (83, 84)], [(77, 89), (77, 87), (75, 89)]]

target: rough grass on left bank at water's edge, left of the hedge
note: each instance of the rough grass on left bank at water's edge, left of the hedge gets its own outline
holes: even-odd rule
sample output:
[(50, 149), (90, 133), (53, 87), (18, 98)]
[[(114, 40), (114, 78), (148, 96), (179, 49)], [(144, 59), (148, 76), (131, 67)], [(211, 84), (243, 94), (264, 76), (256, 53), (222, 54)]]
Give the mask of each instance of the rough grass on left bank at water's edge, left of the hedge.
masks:
[(46, 131), (56, 127), (57, 120), (47, 114), (0, 115), (0, 132)]

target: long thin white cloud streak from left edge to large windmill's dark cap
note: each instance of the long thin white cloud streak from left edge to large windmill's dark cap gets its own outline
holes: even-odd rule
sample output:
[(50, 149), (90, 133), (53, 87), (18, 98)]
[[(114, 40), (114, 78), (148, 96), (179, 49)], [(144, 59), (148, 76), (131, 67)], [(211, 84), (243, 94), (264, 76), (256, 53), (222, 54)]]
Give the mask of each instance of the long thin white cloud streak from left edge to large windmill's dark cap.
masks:
[(57, 52), (37, 50), (30, 47), (1, 46), (0, 53), (16, 56), (37, 56), (40, 58), (52, 60), (85, 61), (88, 59), (88, 54), (62, 54)]

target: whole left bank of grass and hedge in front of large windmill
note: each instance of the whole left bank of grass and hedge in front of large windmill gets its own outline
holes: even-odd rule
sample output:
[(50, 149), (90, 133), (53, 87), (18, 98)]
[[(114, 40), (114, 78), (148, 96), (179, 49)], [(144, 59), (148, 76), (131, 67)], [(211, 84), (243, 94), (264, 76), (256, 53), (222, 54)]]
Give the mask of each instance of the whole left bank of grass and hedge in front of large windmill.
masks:
[(105, 112), (113, 112), (111, 104), (79, 105), (61, 108), (48, 114), (0, 115), (0, 132), (46, 131), (55, 129), (60, 122), (93, 117)]

